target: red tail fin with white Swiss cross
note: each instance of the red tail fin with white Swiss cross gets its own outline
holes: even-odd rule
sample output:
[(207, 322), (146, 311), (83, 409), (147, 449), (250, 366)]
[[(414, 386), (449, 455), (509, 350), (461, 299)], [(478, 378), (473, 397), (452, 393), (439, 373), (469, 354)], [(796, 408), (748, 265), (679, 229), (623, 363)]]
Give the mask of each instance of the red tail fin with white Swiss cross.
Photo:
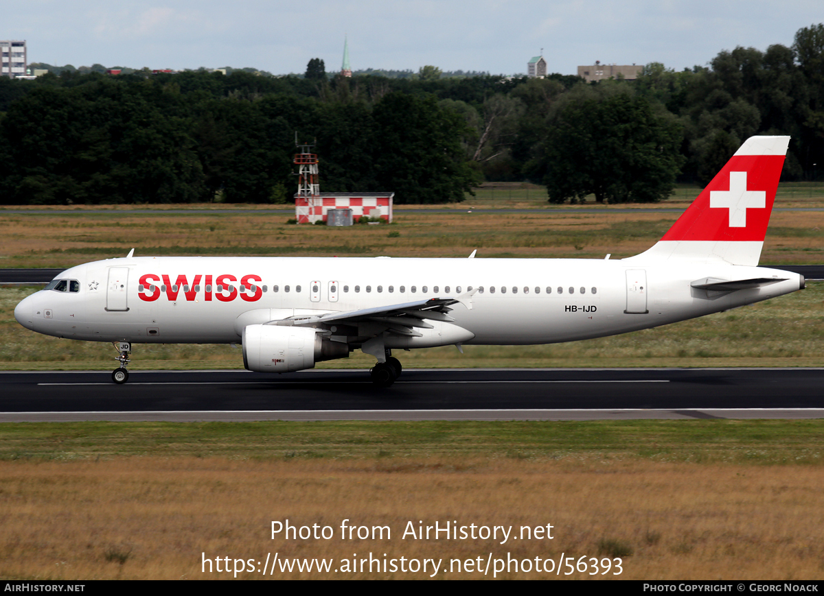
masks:
[(789, 137), (748, 138), (658, 244), (627, 260), (757, 265), (788, 145)]

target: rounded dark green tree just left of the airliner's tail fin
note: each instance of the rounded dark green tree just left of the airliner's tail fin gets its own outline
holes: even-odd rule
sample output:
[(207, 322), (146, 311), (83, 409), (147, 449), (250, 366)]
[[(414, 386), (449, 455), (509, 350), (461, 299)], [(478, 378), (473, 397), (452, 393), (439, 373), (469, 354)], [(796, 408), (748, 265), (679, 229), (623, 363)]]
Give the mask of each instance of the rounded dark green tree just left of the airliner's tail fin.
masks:
[(550, 203), (649, 203), (667, 198), (682, 158), (681, 126), (629, 92), (571, 96), (552, 119), (544, 182)]

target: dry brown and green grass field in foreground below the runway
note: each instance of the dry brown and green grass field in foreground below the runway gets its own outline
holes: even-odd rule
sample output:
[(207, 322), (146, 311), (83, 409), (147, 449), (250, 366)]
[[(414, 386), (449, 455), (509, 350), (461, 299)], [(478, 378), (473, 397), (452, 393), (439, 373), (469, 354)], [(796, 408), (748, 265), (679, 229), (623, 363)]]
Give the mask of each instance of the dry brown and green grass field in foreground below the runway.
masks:
[[(622, 559), (620, 579), (817, 579), (818, 421), (0, 425), (0, 577), (230, 579), (207, 558)], [(271, 538), (271, 522), (333, 538)], [(388, 526), (341, 539), (340, 524)], [(553, 538), (402, 538), (551, 524)], [(328, 535), (328, 534), (327, 534)], [(524, 537), (526, 538), (526, 537)], [(543, 565), (543, 563), (542, 563)], [(246, 565), (244, 565), (246, 567)], [(225, 565), (222, 565), (225, 568)], [(440, 579), (483, 579), (440, 571)], [(207, 569), (208, 570), (208, 569)], [(598, 571), (602, 571), (601, 567)], [(613, 569), (614, 570), (614, 569)], [(564, 567), (563, 571), (569, 571)], [(503, 578), (592, 579), (509, 571)], [(267, 578), (425, 579), (372, 569)], [(263, 579), (257, 570), (239, 578)], [(615, 575), (597, 575), (615, 578)]]

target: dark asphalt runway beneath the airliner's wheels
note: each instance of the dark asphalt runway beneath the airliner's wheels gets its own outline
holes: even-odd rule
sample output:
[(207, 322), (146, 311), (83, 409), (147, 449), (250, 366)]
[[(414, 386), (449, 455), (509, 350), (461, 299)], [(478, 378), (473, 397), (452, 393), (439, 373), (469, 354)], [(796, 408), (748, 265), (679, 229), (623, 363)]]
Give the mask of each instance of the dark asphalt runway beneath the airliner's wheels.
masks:
[(2, 372), (0, 421), (822, 418), (824, 369)]

